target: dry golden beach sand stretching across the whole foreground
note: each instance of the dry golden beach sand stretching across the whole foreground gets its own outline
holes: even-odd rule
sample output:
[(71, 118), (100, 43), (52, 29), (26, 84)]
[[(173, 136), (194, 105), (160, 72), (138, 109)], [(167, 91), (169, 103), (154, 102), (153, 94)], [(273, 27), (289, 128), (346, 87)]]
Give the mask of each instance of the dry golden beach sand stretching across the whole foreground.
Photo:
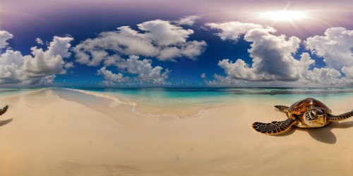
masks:
[[(158, 120), (131, 105), (42, 89), (3, 97), (0, 175), (352, 175), (353, 119), (281, 136), (251, 129), (285, 120), (265, 101), (234, 101), (193, 118)], [(353, 98), (326, 103), (335, 113)]]

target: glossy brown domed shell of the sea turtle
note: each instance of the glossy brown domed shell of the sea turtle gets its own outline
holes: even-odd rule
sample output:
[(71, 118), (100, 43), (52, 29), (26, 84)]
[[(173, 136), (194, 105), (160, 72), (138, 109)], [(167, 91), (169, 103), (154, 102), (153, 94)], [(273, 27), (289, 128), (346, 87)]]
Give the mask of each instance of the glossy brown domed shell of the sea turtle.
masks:
[(313, 98), (307, 98), (301, 101), (297, 101), (288, 108), (288, 111), (291, 114), (303, 115), (306, 111), (310, 110), (311, 108), (323, 108), (325, 110), (325, 113), (332, 113), (328, 106), (325, 106), (324, 103)]

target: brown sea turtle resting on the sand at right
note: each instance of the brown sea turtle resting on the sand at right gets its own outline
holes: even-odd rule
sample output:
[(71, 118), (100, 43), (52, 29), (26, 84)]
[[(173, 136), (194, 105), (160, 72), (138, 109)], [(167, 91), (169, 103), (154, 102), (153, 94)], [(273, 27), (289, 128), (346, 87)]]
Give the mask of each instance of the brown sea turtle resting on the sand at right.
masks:
[(284, 121), (273, 121), (270, 123), (254, 122), (253, 130), (268, 135), (287, 132), (292, 125), (296, 127), (324, 127), (330, 122), (346, 120), (353, 116), (353, 111), (332, 115), (330, 108), (313, 98), (297, 101), (292, 106), (275, 106), (277, 111), (288, 114)]

